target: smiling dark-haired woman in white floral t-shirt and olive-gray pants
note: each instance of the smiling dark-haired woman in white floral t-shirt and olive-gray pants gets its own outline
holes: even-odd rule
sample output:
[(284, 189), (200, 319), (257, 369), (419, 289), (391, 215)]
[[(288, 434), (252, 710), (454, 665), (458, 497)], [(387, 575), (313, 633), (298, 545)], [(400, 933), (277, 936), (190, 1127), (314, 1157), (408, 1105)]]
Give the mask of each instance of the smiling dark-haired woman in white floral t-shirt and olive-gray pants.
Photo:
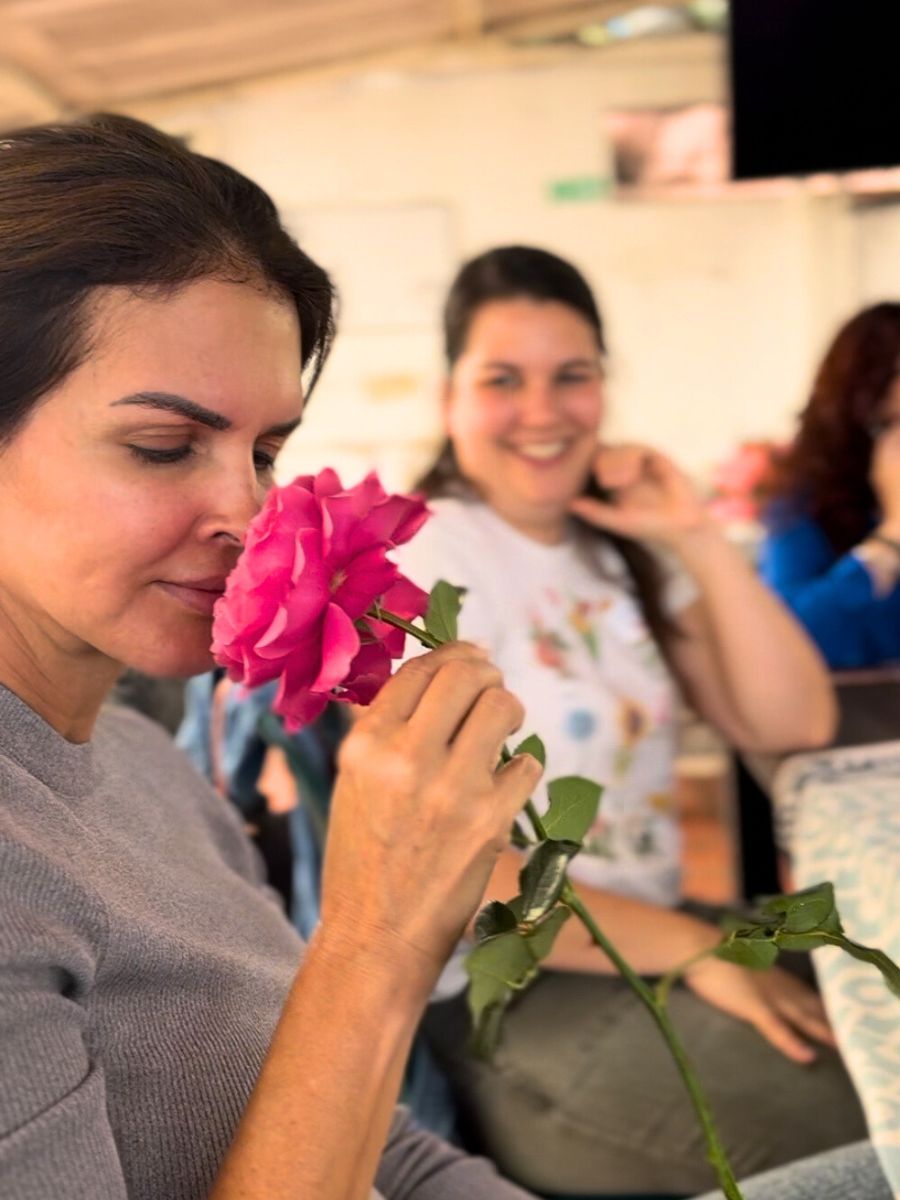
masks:
[[(719, 938), (682, 906), (679, 697), (733, 745), (812, 746), (834, 720), (823, 664), (671, 460), (598, 440), (604, 331), (574, 266), (522, 246), (473, 259), (444, 332), (449, 440), (424, 481), (436, 515), (398, 562), (422, 587), (468, 589), (462, 636), (523, 701), (547, 778), (604, 784), (571, 875), (632, 966), (660, 974)], [(521, 865), (506, 850), (486, 895), (514, 895)], [(576, 922), (548, 965), (492, 1066), (464, 1049), (458, 961), (426, 1016), (481, 1144), (539, 1190), (698, 1190), (694, 1116), (636, 997)], [(672, 1007), (738, 1172), (862, 1134), (821, 1002), (797, 978), (706, 960)]]

